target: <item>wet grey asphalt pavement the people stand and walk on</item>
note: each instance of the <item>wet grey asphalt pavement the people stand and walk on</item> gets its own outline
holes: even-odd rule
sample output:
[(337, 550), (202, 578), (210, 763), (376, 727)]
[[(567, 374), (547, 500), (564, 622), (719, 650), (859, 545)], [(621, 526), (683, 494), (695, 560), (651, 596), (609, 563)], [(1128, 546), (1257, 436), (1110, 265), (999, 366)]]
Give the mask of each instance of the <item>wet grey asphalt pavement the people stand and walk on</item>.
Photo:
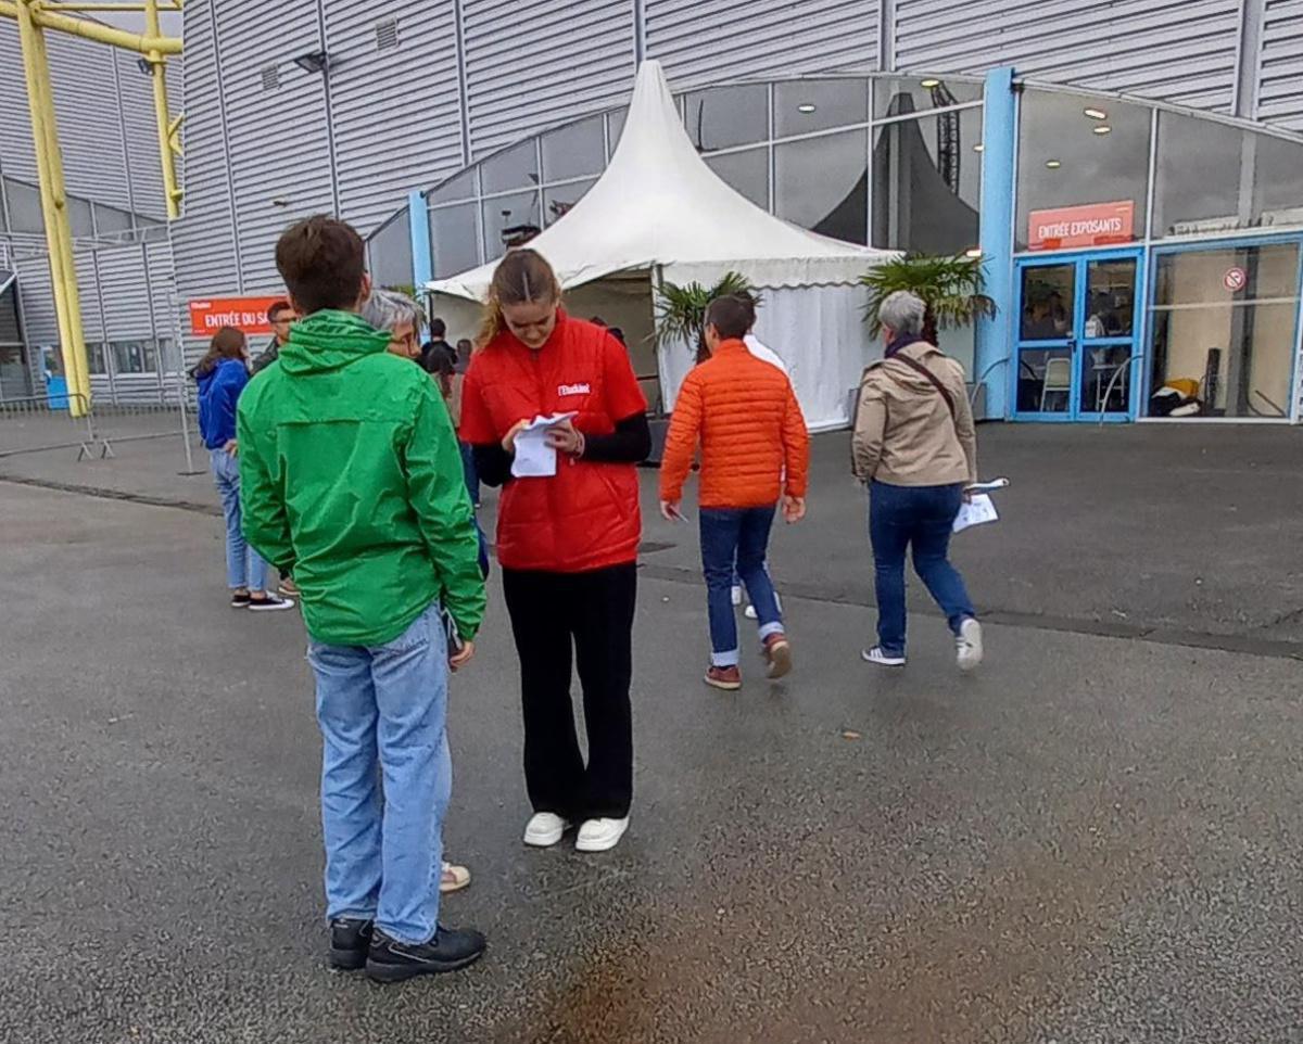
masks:
[(649, 518), (633, 823), (599, 857), (520, 844), (495, 581), (444, 905), (490, 952), (387, 988), (323, 966), (302, 625), (225, 607), (202, 487), (0, 482), (0, 1040), (1303, 1041), (1299, 444), (1250, 431), (984, 428), (1015, 486), (958, 547), (976, 677), (930, 613), (904, 672), (859, 661), (831, 439), (774, 545), (784, 683), (701, 685), (694, 534)]

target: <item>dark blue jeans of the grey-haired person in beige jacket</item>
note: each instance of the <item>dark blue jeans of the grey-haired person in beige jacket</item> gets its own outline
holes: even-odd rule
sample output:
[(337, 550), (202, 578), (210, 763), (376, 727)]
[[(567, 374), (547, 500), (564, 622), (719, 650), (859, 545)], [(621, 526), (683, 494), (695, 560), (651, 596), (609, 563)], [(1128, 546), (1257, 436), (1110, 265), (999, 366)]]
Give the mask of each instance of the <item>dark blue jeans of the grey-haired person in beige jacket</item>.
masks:
[(904, 553), (913, 548), (913, 570), (946, 614), (950, 630), (977, 616), (964, 578), (946, 557), (950, 532), (963, 502), (960, 486), (887, 486), (870, 488), (869, 539), (878, 600), (878, 646), (904, 656)]

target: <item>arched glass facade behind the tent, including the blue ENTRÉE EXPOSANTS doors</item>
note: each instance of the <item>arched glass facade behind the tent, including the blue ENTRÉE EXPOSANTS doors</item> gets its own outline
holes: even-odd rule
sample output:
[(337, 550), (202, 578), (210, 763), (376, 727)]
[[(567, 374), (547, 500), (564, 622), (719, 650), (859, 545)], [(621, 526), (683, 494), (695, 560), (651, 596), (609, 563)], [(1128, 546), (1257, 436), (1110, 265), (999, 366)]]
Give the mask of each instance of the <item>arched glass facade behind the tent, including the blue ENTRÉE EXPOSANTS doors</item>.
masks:
[[(702, 160), (783, 220), (920, 254), (979, 246), (985, 142), (973, 78), (825, 74), (676, 102)], [(435, 186), (435, 276), (493, 260), (563, 216), (597, 184), (625, 118), (625, 108), (582, 117)], [(1016, 316), (1003, 371), (1016, 385), (1011, 413), (1165, 415), (1153, 394), (1177, 381), (1204, 417), (1290, 415), (1303, 142), (1037, 86), (1019, 92), (1016, 121), (1018, 272), (1014, 299), (997, 302)], [(1290, 241), (1217, 242), (1246, 232)], [(942, 342), (972, 367), (973, 331)]]

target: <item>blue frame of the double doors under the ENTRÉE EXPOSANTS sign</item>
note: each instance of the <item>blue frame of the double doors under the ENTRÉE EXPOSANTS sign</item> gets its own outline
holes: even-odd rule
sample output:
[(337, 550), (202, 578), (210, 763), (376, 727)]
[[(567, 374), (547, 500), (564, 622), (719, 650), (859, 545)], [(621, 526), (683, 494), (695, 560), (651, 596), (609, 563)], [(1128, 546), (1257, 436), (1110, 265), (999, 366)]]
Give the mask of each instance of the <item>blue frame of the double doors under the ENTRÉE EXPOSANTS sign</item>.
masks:
[[(1132, 285), (1132, 314), (1131, 332), (1123, 336), (1101, 335), (1088, 324), (1089, 266), (1098, 262), (1130, 260), (1135, 263), (1135, 281)], [(1023, 337), (1023, 285), (1024, 273), (1036, 268), (1065, 267), (1072, 268), (1072, 327), (1063, 331), (1062, 336), (1054, 337)], [(1134, 420), (1139, 409), (1143, 383), (1144, 332), (1145, 332), (1145, 294), (1149, 281), (1145, 273), (1145, 251), (1141, 246), (1118, 247), (1109, 250), (1083, 250), (1044, 254), (1036, 256), (1022, 256), (1015, 259), (1014, 266), (1014, 311), (1011, 315), (1011, 366), (1010, 366), (1010, 402), (1012, 409), (1010, 417), (1014, 420), (1035, 420), (1049, 423), (1070, 423), (1074, 420), (1095, 420), (1105, 423), (1121, 423)], [(1100, 353), (1117, 349), (1127, 349), (1128, 355), (1124, 363), (1093, 364), (1088, 375), (1088, 363), (1092, 358), (1098, 358)], [(1023, 359), (1023, 354), (1044, 353), (1046, 358), (1045, 371), (1036, 374), (1035, 366)], [(1062, 358), (1067, 353), (1070, 359), (1068, 384), (1050, 392), (1045, 388), (1049, 378), (1048, 361), (1050, 353)], [(1118, 374), (1119, 367), (1126, 367), (1126, 374)], [(1040, 381), (1041, 396), (1035, 409), (1028, 409), (1027, 397), (1019, 397), (1020, 378), (1032, 374)], [(1083, 409), (1083, 393), (1088, 376), (1093, 376), (1096, 388), (1096, 404), (1089, 409)], [(1104, 410), (1111, 396), (1109, 388), (1124, 381), (1126, 409)], [(1067, 404), (1063, 410), (1041, 409), (1049, 405), (1049, 396), (1066, 394)]]

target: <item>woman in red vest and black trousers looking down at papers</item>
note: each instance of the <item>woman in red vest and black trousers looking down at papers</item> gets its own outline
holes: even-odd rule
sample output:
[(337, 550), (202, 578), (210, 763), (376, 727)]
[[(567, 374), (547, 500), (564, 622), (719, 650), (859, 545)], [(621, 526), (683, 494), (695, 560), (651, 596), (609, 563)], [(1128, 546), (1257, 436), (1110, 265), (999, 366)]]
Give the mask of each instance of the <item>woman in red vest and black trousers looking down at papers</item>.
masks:
[[(534, 816), (525, 844), (615, 847), (629, 823), (629, 707), (637, 553), (642, 525), (635, 465), (652, 452), (646, 400), (628, 351), (560, 307), (560, 284), (533, 250), (503, 258), (461, 392), (461, 440), (481, 482), (502, 486), (498, 562), (520, 655), (525, 784)], [(536, 417), (573, 414), (542, 436), (555, 450), (520, 478), (516, 437)], [(539, 437), (530, 432), (525, 439)], [(537, 444), (536, 444), (537, 446)], [(529, 454), (537, 460), (539, 454)], [(584, 689), (588, 765), (571, 703), (571, 650)]]

